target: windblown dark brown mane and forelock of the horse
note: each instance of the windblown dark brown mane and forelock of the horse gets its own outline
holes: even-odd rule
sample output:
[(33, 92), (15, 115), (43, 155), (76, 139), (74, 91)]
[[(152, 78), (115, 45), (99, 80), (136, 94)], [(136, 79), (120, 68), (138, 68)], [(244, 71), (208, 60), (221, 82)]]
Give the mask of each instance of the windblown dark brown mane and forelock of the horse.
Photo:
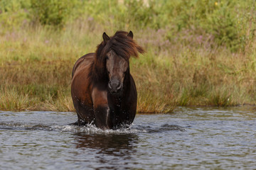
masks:
[(107, 56), (107, 52), (113, 50), (118, 56), (129, 60), (130, 57), (139, 57), (139, 53), (143, 53), (144, 49), (129, 36), (128, 33), (122, 30), (117, 31), (107, 42), (102, 41), (97, 46), (96, 60), (102, 62)]

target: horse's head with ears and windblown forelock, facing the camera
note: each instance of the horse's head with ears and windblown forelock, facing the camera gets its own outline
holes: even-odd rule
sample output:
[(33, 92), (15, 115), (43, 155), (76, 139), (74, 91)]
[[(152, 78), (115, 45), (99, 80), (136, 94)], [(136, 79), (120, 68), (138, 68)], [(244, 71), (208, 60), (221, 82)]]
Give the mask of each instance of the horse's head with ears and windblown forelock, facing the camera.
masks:
[(132, 39), (133, 33), (117, 32), (113, 37), (102, 35), (103, 42), (109, 49), (106, 59), (106, 71), (109, 78), (108, 89), (113, 95), (122, 94), (124, 78), (129, 75), (129, 57), (137, 57), (137, 51), (144, 52)]

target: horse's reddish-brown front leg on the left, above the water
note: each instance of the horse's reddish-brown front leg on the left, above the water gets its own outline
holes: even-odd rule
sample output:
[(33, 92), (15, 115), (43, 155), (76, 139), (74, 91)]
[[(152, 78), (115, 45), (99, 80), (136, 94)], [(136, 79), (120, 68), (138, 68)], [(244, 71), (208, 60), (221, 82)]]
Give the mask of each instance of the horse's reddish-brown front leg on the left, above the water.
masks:
[(103, 130), (111, 129), (112, 122), (110, 116), (110, 107), (107, 103), (107, 91), (94, 89), (92, 91), (92, 102), (95, 111), (95, 124)]

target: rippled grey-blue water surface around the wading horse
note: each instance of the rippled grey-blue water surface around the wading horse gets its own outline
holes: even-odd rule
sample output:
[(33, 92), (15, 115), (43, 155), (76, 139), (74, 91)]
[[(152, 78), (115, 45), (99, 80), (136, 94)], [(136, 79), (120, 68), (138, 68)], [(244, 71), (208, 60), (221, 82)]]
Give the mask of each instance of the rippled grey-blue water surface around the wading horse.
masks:
[(177, 108), (129, 129), (68, 125), (75, 113), (0, 112), (0, 169), (256, 169), (256, 111)]

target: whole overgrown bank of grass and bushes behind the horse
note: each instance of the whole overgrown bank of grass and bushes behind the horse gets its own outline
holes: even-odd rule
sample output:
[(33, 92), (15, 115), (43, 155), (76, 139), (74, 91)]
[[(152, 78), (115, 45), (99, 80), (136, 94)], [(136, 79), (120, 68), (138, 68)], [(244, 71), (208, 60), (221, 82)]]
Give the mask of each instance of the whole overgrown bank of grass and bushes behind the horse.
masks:
[[(70, 97), (73, 64), (95, 51), (103, 32), (113, 35), (119, 29), (132, 30), (134, 39), (146, 49), (146, 54), (130, 63), (138, 112), (256, 104), (253, 1), (186, 4), (177, 0), (165, 2), (169, 8), (149, 1), (139, 9), (137, 3), (142, 1), (87, 1), (83, 8), (80, 1), (73, 1), (79, 10), (48, 16), (45, 22), (33, 9), (46, 4), (24, 2), (17, 0), (16, 6), (1, 8), (0, 110), (74, 111)], [(63, 2), (55, 6), (65, 8)], [(222, 23), (219, 16), (225, 10), (230, 16), (221, 16)], [(59, 23), (53, 22), (58, 18)]]

